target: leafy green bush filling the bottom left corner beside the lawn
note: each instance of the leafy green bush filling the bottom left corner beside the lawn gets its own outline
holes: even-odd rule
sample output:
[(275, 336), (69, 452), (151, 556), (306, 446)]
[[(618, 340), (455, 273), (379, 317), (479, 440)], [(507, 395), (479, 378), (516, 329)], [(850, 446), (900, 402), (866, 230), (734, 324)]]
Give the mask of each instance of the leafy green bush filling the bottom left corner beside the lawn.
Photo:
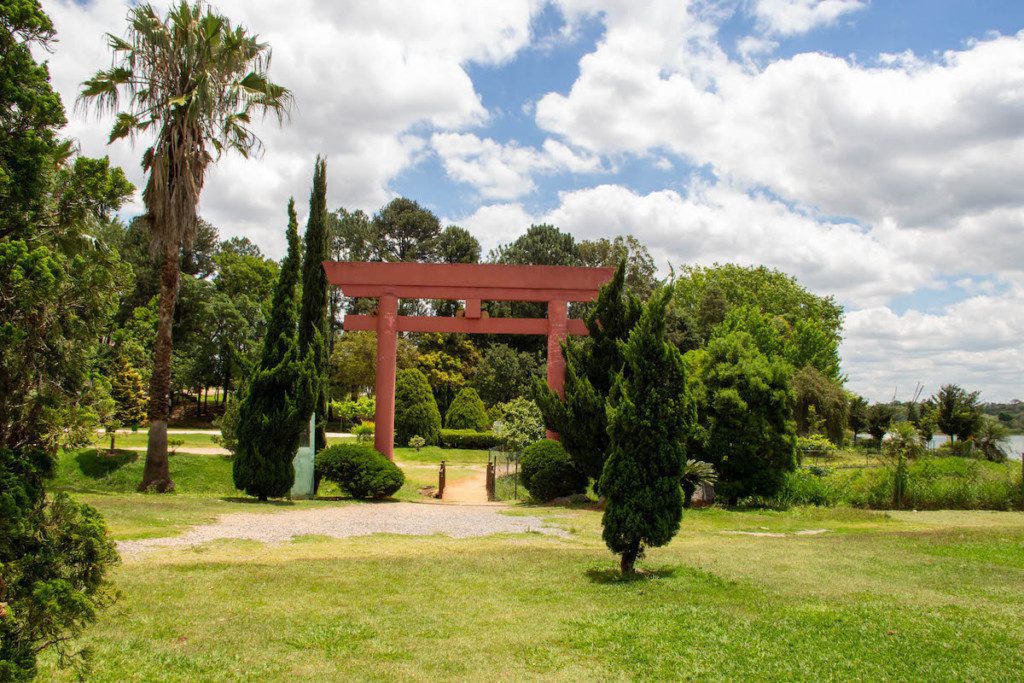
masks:
[(36, 656), (79, 653), (72, 641), (111, 601), (117, 551), (99, 513), (67, 494), (47, 498), (51, 460), (0, 449), (0, 680), (30, 680)]

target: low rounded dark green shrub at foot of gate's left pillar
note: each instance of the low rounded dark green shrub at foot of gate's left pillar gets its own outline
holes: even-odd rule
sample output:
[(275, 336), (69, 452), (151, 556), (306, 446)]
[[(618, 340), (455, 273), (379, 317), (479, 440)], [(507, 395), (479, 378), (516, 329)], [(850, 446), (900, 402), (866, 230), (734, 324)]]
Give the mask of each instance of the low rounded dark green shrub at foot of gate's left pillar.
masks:
[(362, 443), (341, 443), (317, 453), (316, 476), (359, 499), (387, 498), (406, 482), (397, 465)]

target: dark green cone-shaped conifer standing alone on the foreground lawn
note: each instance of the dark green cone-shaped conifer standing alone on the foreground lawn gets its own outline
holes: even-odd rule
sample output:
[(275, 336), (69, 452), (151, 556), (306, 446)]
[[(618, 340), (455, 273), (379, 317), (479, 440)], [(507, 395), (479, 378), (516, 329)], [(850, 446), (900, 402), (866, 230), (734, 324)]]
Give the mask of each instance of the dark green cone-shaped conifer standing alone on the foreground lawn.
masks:
[(622, 344), (624, 365), (608, 397), (608, 459), (601, 474), (604, 542), (633, 572), (644, 548), (679, 530), (685, 439), (695, 419), (683, 356), (665, 338), (671, 289), (654, 293)]

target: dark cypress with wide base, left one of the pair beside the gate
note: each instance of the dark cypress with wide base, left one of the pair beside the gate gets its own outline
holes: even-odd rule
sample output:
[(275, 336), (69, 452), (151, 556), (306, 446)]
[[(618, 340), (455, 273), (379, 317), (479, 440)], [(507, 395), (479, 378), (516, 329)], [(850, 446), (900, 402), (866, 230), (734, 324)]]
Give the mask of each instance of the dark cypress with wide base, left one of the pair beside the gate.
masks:
[(295, 202), (288, 203), (288, 255), (273, 293), (270, 323), (259, 367), (239, 407), (234, 486), (261, 501), (288, 494), (295, 481), (292, 460), (309, 418), (301, 397), (311, 393), (310, 364), (295, 342), (295, 286), (299, 280), (299, 228)]

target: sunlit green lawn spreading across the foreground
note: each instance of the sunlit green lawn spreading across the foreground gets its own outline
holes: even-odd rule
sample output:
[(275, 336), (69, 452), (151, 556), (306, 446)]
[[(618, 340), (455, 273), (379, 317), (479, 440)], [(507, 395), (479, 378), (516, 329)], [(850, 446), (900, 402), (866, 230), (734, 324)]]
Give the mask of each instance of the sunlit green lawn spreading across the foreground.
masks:
[[(177, 463), (179, 481), (195, 462)], [(122, 538), (280, 509), (76, 495)], [(358, 505), (298, 505), (338, 504)], [(695, 510), (641, 562), (646, 575), (623, 583), (600, 512), (513, 512), (571, 536), (217, 542), (128, 558), (114, 572), (121, 598), (84, 643), (89, 679), (1008, 680), (1024, 670), (1022, 513)], [(796, 535), (807, 529), (827, 530)], [(72, 678), (50, 659), (41, 673)]]

